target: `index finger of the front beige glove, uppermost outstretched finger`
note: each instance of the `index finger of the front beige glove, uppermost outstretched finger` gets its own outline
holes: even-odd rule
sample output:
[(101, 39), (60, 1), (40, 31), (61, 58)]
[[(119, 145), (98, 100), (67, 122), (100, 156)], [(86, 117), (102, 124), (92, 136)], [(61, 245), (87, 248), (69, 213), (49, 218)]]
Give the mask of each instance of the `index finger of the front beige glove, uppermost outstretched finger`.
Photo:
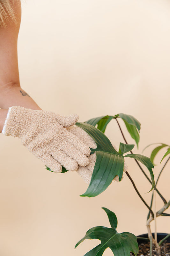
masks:
[(86, 156), (90, 155), (90, 148), (84, 144), (77, 136), (72, 134), (71, 132), (65, 130), (64, 131), (64, 139), (65, 141), (69, 142), (71, 145), (73, 145), (75, 148), (77, 148), (79, 151), (81, 151)]

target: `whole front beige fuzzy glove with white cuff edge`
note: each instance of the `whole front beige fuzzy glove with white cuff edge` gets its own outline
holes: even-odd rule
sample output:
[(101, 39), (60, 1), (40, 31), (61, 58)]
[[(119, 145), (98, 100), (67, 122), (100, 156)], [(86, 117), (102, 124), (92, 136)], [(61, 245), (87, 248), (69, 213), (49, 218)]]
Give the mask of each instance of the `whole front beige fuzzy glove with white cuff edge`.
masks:
[(53, 112), (13, 106), (9, 108), (2, 133), (19, 137), (36, 157), (52, 171), (70, 171), (86, 166), (90, 149), (65, 127), (74, 125), (78, 115), (60, 116)]

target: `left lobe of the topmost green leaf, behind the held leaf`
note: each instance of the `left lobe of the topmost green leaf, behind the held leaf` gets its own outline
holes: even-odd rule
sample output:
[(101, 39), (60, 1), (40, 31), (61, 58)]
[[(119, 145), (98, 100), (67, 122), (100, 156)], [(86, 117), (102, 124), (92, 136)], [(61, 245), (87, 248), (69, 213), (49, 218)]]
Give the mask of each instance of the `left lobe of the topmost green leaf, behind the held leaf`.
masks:
[(92, 118), (85, 123), (91, 124), (92, 126), (96, 126), (97, 128), (102, 131), (103, 133), (105, 132), (105, 129), (108, 125), (108, 123), (114, 118), (114, 116), (101, 116), (101, 117), (96, 117)]

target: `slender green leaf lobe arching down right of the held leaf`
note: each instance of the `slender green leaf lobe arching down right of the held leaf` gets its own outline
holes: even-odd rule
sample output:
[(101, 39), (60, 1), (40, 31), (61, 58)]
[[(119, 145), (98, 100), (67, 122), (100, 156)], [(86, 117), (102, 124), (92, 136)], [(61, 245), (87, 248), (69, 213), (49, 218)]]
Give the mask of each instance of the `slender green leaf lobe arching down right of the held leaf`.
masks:
[(137, 161), (140, 161), (141, 163), (143, 163), (147, 167), (147, 169), (149, 170), (150, 175), (151, 175), (151, 180), (152, 180), (152, 188), (151, 188), (151, 190), (152, 190), (154, 188), (154, 186), (155, 186), (155, 180), (154, 180), (154, 175), (153, 175), (153, 171), (152, 171), (152, 168), (154, 168), (154, 166), (153, 166), (150, 158), (147, 157), (147, 156), (139, 155), (139, 154), (128, 154), (128, 155), (125, 155), (124, 157), (134, 158)]

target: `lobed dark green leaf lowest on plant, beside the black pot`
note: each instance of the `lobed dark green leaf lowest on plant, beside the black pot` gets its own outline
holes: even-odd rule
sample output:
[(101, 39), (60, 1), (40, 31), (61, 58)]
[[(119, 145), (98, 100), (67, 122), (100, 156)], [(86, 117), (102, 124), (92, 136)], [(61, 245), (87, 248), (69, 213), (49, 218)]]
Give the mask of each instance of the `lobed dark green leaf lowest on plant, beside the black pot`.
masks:
[(92, 227), (86, 235), (76, 244), (75, 248), (85, 239), (99, 239), (101, 243), (87, 252), (84, 256), (101, 256), (109, 247), (115, 256), (129, 256), (130, 252), (138, 253), (137, 237), (129, 232), (118, 233), (117, 218), (114, 212), (102, 208), (109, 218), (111, 228)]

